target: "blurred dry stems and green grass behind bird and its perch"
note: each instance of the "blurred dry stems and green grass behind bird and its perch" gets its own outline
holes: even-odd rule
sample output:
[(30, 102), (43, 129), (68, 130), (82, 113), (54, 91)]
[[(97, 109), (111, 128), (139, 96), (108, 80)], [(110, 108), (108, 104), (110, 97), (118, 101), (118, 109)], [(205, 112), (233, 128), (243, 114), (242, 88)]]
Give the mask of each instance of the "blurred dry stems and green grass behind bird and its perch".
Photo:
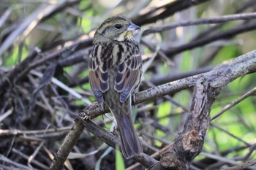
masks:
[[(179, 26), (147, 36), (143, 31), (198, 18), (246, 14), (255, 8), (255, 1), (236, 0), (1, 1), (0, 167), (48, 169), (80, 109), (94, 101), (87, 61), (94, 31), (105, 18), (124, 15), (141, 26), (137, 39), (145, 73), (140, 90), (145, 90), (208, 72), (255, 50), (256, 24), (251, 18)], [(204, 39), (208, 42), (197, 43)], [(255, 78), (247, 74), (227, 85), (214, 102), (211, 116), (255, 88)], [(144, 152), (151, 155), (173, 141), (183, 128), (191, 100), (189, 88), (138, 104), (135, 127)], [(255, 106), (256, 97), (251, 95), (212, 120), (203, 152), (192, 169), (223, 169), (256, 159)], [(94, 121), (114, 131), (113, 115)], [(116, 169), (135, 163), (122, 163), (121, 155), (114, 155), (115, 150), (83, 131), (65, 169), (95, 169), (97, 162), (99, 169)]]

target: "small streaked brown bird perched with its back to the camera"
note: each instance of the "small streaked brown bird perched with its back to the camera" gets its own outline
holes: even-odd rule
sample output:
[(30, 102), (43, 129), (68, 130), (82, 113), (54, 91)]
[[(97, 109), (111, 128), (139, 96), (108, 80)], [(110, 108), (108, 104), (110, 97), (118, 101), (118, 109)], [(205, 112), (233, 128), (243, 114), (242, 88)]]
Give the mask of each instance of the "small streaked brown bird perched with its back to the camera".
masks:
[(140, 47), (132, 34), (138, 28), (128, 18), (108, 18), (94, 34), (89, 57), (91, 89), (98, 103), (105, 102), (116, 118), (124, 158), (143, 151), (131, 116), (131, 95), (142, 74)]

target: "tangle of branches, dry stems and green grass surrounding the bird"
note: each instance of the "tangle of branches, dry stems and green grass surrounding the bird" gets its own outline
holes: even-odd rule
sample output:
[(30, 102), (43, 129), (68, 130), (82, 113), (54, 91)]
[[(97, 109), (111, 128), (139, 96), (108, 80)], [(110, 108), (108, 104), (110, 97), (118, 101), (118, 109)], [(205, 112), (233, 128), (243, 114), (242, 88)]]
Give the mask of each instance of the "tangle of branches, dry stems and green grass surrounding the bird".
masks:
[[(0, 1), (0, 169), (256, 169), (256, 1), (115, 3)], [(144, 153), (124, 163), (88, 82), (113, 15), (141, 26)]]

